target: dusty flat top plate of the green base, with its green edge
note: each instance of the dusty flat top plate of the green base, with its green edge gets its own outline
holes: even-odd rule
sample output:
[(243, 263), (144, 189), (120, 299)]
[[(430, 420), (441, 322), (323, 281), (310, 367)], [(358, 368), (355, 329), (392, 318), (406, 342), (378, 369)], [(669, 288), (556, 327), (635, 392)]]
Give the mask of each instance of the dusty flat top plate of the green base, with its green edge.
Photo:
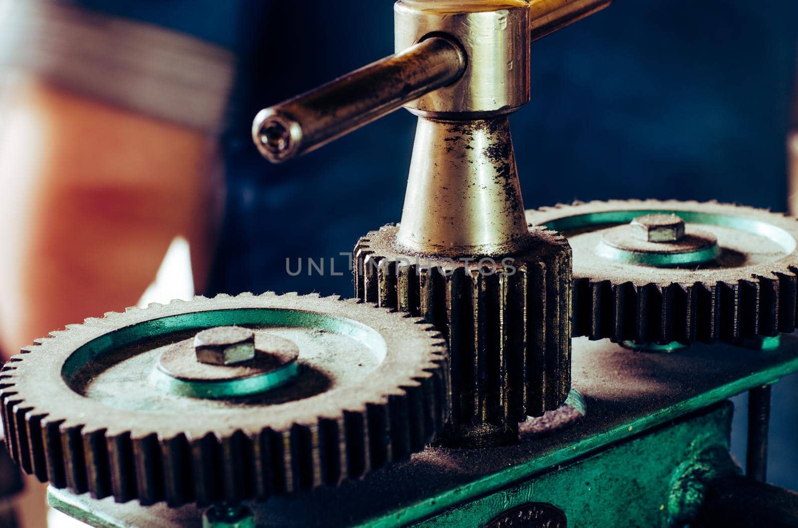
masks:
[[(606, 446), (645, 436), (646, 431), (660, 430), (660, 426), (670, 431), (669, 424), (681, 416), (796, 371), (798, 337), (794, 335), (783, 336), (780, 349), (768, 352), (697, 344), (674, 354), (634, 356), (609, 341), (577, 339), (574, 385), (583, 394), (587, 414), (571, 428), (543, 438), (524, 437), (517, 446), (482, 450), (428, 447), (407, 463), (338, 489), (271, 498), (254, 506), (256, 517), (262, 526), (412, 524)], [(695, 435), (689, 438), (692, 441)], [(689, 442), (660, 443), (673, 451), (675, 447), (686, 449)], [(587, 488), (580, 493), (587, 493)], [(142, 509), (132, 502), (120, 505), (87, 495), (61, 496), (72, 508), (99, 511), (116, 522), (125, 519), (125, 526), (198, 526), (199, 522), (198, 510), (191, 507)], [(668, 506), (662, 502), (646, 502), (641, 507), (651, 507), (663, 518), (668, 514)], [(626, 510), (626, 502), (618, 508)], [(319, 511), (324, 515), (319, 516)]]

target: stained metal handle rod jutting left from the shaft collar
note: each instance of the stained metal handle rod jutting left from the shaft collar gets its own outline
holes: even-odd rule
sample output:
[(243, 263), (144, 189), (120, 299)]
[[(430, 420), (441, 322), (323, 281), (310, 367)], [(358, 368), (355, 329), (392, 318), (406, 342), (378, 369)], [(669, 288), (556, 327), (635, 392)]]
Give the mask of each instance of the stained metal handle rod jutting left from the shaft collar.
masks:
[(290, 160), (456, 81), (465, 64), (455, 41), (427, 38), (401, 53), (264, 108), (255, 116), (252, 137), (267, 160)]

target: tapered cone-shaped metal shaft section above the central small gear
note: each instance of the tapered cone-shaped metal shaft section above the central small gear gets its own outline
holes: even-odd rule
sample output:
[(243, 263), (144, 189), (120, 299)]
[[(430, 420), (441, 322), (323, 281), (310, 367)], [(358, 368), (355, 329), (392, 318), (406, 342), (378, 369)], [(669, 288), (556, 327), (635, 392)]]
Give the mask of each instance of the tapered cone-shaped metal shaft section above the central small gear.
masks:
[(419, 118), (396, 236), (405, 254), (452, 258), (512, 254), (535, 243), (507, 116)]

